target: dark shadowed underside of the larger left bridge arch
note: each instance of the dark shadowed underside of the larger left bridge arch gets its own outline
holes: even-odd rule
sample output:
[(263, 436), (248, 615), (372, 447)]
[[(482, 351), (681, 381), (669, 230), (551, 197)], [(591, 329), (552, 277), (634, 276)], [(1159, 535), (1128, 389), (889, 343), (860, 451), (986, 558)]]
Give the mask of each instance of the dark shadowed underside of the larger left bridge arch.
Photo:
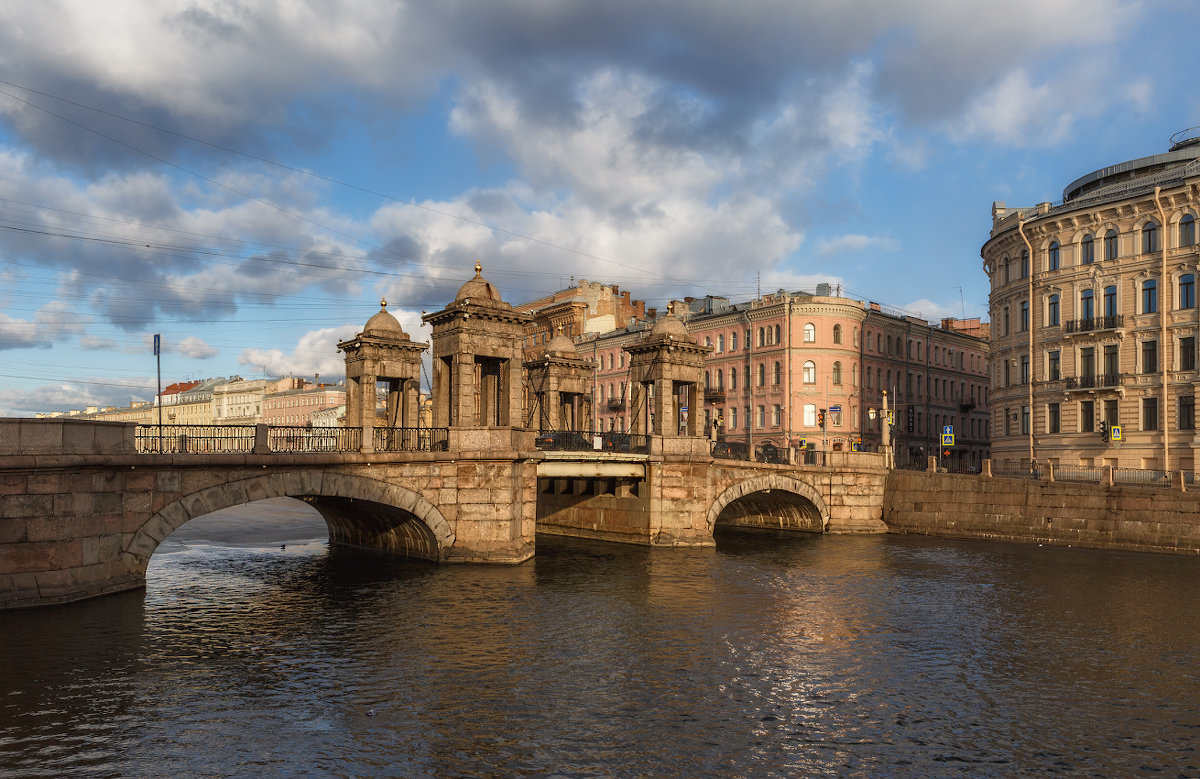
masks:
[(373, 501), (306, 497), (329, 526), (330, 544), (438, 562), (438, 539), (414, 514)]

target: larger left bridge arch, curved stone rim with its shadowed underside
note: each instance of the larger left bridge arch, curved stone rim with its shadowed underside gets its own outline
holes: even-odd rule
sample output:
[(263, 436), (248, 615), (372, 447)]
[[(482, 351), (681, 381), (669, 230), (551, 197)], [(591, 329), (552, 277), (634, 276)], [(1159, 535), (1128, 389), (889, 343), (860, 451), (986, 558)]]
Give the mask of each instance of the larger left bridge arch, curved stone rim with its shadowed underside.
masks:
[(212, 511), (265, 498), (299, 498), (325, 520), (335, 544), (439, 561), (455, 533), (436, 505), (407, 487), (344, 473), (289, 472), (239, 479), (180, 496), (151, 515), (124, 552), (145, 573), (164, 538)]

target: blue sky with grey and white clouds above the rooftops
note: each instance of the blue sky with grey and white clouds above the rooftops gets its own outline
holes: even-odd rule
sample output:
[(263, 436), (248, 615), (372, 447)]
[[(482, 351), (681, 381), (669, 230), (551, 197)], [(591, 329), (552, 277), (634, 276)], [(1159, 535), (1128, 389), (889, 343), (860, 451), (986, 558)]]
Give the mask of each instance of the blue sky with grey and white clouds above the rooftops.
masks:
[(991, 204), (1200, 125), (1200, 4), (6, 0), (0, 415), (342, 378), (509, 302), (840, 286), (988, 317)]

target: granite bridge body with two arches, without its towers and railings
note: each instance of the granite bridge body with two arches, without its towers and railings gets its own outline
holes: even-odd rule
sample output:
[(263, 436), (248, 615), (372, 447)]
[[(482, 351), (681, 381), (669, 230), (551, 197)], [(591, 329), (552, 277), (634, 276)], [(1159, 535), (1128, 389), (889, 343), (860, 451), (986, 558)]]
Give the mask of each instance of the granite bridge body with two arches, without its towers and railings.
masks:
[(444, 451), (154, 454), (133, 425), (0, 420), (0, 607), (142, 587), (185, 522), (283, 496), (320, 513), (335, 545), (439, 563), (521, 563), (538, 533), (697, 546), (722, 526), (887, 529), (876, 455), (763, 465), (714, 460), (695, 437), (652, 436), (638, 455), (448, 432)]

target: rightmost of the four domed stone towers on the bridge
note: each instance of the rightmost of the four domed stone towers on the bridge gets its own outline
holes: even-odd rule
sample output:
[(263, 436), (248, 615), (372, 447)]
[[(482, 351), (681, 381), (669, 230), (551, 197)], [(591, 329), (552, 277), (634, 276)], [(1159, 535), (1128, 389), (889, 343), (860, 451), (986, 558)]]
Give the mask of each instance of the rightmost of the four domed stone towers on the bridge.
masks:
[(634, 432), (665, 437), (700, 436), (703, 413), (697, 395), (704, 356), (682, 319), (668, 312), (640, 342), (626, 346), (632, 378)]

